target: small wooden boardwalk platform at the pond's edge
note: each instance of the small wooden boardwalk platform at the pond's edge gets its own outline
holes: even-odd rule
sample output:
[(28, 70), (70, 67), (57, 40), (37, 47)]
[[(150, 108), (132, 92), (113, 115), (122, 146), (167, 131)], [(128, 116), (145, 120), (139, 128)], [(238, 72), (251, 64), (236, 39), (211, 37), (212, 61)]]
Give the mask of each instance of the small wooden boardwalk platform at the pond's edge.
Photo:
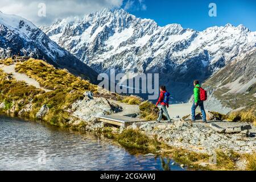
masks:
[(142, 122), (146, 120), (127, 117), (126, 115), (110, 114), (98, 117), (98, 121), (116, 126), (127, 127), (133, 125), (134, 122)]

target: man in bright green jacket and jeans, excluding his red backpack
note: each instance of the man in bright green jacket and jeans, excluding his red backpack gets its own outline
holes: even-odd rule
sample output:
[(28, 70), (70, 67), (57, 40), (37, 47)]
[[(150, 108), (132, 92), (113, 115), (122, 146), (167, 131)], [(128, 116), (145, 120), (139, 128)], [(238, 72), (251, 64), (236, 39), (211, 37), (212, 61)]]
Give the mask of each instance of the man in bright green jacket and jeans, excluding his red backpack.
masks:
[(203, 115), (203, 122), (206, 122), (206, 114), (205, 114), (205, 110), (204, 110), (204, 101), (200, 101), (200, 85), (199, 85), (199, 81), (195, 80), (193, 82), (194, 84), (194, 102), (193, 105), (191, 107), (191, 112), (192, 112), (192, 119), (191, 121), (196, 121), (196, 107), (199, 106), (201, 113)]

